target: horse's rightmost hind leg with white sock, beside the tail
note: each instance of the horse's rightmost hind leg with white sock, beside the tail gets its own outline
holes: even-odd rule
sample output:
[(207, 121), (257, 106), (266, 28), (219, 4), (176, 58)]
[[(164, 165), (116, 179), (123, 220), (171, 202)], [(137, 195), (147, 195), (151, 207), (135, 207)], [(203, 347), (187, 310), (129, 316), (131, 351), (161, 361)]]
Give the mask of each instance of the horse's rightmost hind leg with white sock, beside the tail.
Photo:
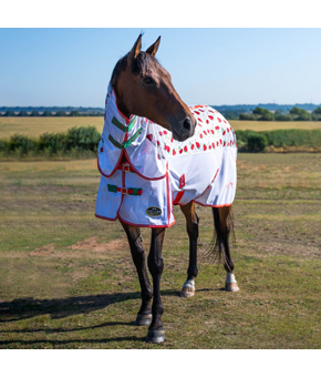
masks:
[(229, 235), (232, 227), (231, 205), (226, 207), (213, 207), (215, 230), (217, 234), (215, 249), (224, 258), (226, 269), (226, 292), (238, 292), (239, 286), (234, 275), (234, 262), (230, 256)]

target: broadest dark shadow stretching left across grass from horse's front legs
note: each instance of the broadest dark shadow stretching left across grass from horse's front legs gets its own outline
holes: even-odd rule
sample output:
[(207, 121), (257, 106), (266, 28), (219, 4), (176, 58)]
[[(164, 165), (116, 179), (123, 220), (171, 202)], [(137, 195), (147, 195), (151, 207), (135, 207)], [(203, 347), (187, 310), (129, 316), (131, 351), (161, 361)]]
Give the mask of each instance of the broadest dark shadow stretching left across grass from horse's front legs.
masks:
[[(162, 296), (175, 295), (178, 295), (176, 291), (162, 292)], [(17, 298), (12, 302), (0, 303), (0, 323), (32, 318), (45, 314), (49, 314), (52, 319), (64, 318), (100, 310), (115, 303), (139, 298), (141, 293), (138, 292), (54, 299)]]

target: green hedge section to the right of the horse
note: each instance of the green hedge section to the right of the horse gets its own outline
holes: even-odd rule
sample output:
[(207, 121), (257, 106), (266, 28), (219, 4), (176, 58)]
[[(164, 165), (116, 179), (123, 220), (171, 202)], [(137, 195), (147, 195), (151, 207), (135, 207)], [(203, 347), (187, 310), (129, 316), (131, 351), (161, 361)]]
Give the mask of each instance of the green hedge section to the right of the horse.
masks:
[(262, 152), (273, 147), (321, 147), (321, 130), (236, 131), (240, 152)]

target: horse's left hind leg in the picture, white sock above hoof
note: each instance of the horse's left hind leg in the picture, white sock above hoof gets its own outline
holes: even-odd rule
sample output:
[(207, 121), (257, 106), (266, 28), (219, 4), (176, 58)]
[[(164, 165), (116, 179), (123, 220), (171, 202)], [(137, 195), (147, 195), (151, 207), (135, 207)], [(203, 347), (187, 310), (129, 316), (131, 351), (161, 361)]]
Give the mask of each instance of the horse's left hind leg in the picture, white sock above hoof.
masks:
[(187, 281), (184, 283), (180, 291), (180, 297), (191, 297), (195, 295), (195, 278), (197, 276), (197, 238), (198, 238), (198, 222), (195, 211), (195, 203), (190, 202), (180, 206), (186, 218), (186, 230), (189, 237), (189, 262), (187, 269)]

